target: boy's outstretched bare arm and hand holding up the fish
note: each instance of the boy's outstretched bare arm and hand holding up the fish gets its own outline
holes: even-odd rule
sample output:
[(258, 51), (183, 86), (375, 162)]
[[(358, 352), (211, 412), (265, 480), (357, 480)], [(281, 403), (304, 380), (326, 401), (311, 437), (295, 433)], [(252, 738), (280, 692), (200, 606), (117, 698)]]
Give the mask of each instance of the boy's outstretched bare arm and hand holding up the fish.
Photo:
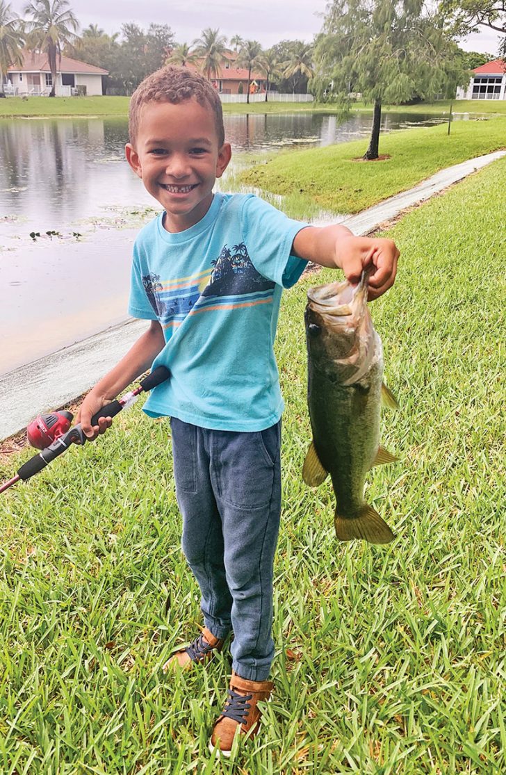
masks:
[(295, 236), (294, 255), (322, 267), (338, 267), (352, 283), (367, 267), (369, 299), (384, 294), (394, 284), (399, 251), (391, 239), (356, 237), (346, 226), (306, 226)]

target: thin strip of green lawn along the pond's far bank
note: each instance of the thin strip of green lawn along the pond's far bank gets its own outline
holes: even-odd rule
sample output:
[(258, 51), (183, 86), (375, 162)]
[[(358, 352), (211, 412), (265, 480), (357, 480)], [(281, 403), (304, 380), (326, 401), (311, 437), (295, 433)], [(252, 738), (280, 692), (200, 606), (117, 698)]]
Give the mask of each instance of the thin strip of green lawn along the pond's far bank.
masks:
[[(441, 102), (420, 103), (418, 105), (391, 105), (385, 110), (396, 112), (437, 113), (449, 111), (449, 100)], [(453, 101), (453, 112), (470, 113), (506, 113), (506, 100)], [(129, 97), (9, 97), (0, 99), (0, 117), (15, 116), (46, 116), (46, 115), (128, 115)], [(255, 102), (251, 105), (243, 103), (223, 105), (225, 113), (295, 113), (295, 112), (341, 112), (341, 108), (332, 104), (315, 102)], [(371, 105), (357, 102), (353, 110), (372, 112)]]

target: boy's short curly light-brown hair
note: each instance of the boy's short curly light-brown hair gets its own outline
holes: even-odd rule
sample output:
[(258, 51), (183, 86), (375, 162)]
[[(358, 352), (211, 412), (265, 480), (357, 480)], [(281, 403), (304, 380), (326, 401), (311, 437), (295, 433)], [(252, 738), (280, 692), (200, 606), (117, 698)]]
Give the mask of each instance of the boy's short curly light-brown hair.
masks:
[(218, 92), (205, 77), (188, 70), (188, 67), (174, 67), (174, 65), (167, 65), (148, 75), (133, 92), (129, 106), (130, 143), (135, 145), (140, 114), (146, 102), (171, 102), (177, 105), (192, 98), (203, 108), (212, 109), (221, 148), (225, 142), (225, 129)]

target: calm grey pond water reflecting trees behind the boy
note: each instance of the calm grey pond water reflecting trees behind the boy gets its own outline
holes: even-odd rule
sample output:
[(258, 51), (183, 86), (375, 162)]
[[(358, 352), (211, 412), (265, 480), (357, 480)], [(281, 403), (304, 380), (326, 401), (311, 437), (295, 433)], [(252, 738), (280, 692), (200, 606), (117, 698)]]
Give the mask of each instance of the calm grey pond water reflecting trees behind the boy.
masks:
[[(383, 131), (446, 120), (385, 112)], [(227, 114), (229, 181), (247, 153), (367, 137), (370, 122)], [(126, 319), (133, 240), (158, 207), (124, 160), (127, 136), (126, 119), (0, 121), (0, 374)]]

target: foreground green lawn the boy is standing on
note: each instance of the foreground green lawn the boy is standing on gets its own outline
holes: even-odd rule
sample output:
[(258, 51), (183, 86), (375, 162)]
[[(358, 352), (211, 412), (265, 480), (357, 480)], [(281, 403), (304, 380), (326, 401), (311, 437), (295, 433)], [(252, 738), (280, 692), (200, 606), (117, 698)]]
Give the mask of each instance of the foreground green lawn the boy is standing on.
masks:
[(207, 750), (227, 653), (186, 677), (160, 671), (200, 621), (167, 423), (137, 405), (0, 495), (2, 775), (504, 773), (505, 174), (492, 164), (390, 232), (398, 281), (371, 312), (401, 404), (383, 440), (401, 462), (367, 487), (398, 534), (389, 546), (337, 543), (329, 485), (301, 482), (305, 291), (336, 274), (284, 294), (276, 691), (231, 763)]

